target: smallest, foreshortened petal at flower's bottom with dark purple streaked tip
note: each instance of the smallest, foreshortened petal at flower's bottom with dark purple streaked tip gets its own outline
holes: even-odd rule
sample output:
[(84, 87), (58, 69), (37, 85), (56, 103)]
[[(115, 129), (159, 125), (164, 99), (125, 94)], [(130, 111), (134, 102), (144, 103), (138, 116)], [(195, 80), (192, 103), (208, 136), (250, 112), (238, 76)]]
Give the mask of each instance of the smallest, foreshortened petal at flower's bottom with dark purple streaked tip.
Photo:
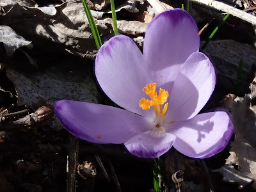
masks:
[(134, 156), (156, 158), (163, 155), (175, 141), (175, 136), (163, 131), (142, 132), (124, 143)]

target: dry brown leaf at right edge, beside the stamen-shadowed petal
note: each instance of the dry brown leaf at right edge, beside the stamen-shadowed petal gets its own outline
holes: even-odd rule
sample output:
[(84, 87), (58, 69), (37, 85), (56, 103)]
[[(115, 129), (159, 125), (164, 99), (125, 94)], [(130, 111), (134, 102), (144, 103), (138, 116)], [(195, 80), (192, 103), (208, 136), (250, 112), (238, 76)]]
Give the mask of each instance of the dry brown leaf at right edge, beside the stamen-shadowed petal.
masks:
[[(221, 172), (226, 182), (238, 182), (241, 188), (256, 180), (256, 110), (252, 105), (256, 96), (256, 78), (250, 89), (252, 92), (244, 97), (234, 99), (234, 95), (228, 95), (222, 102), (222, 106), (232, 114), (236, 137), (231, 142), (227, 163), (216, 172)], [(253, 185), (255, 188), (256, 184)]]

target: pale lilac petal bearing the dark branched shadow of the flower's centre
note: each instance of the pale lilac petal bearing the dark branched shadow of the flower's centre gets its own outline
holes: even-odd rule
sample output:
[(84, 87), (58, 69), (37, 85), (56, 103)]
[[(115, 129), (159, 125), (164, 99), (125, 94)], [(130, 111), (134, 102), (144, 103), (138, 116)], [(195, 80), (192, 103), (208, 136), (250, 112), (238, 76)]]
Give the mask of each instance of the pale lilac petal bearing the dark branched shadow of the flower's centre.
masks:
[(167, 132), (177, 139), (173, 147), (193, 158), (207, 158), (221, 152), (233, 134), (234, 126), (224, 111), (203, 113), (185, 122), (173, 122)]

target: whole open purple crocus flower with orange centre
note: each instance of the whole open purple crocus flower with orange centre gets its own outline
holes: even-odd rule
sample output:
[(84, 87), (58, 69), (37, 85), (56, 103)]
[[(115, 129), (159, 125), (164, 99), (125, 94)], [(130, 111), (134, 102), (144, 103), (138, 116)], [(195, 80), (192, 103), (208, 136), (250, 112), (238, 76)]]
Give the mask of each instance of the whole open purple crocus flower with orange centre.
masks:
[(138, 157), (154, 158), (172, 146), (194, 158), (217, 154), (232, 136), (227, 113), (198, 114), (215, 86), (209, 58), (199, 49), (198, 28), (184, 10), (168, 10), (148, 25), (143, 54), (118, 35), (100, 47), (95, 76), (124, 109), (60, 100), (56, 116), (68, 131), (93, 143), (124, 143)]

